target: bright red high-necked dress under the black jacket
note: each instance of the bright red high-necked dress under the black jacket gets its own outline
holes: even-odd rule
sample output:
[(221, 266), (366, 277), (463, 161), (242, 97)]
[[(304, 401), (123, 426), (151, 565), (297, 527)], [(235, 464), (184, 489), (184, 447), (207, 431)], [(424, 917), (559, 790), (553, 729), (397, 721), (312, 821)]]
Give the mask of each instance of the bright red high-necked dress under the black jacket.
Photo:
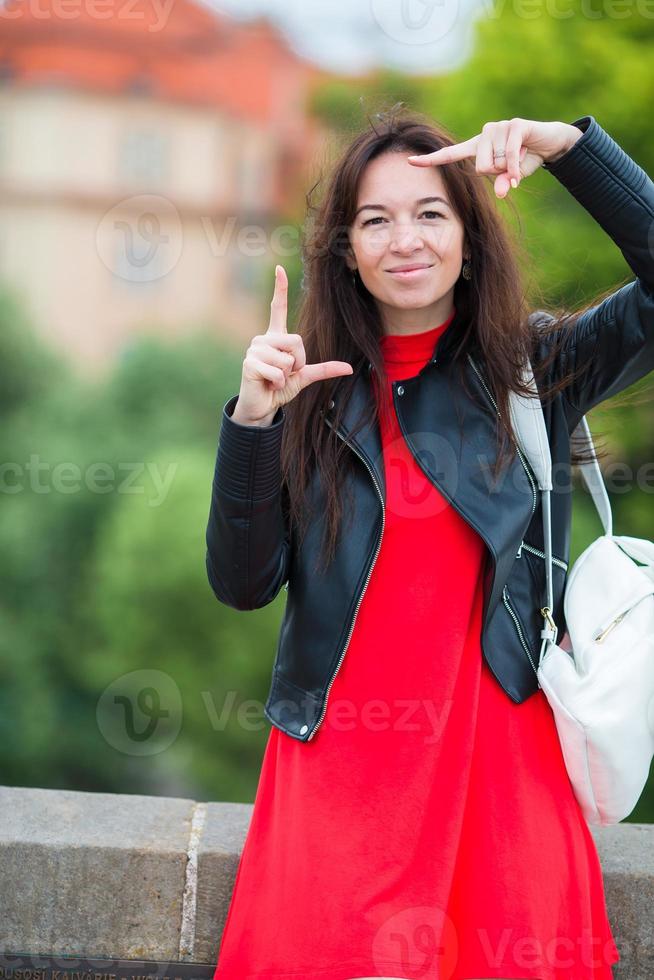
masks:
[[(382, 338), (391, 408), (451, 319)], [(381, 550), (316, 735), (270, 732), (214, 980), (612, 980), (549, 704), (482, 657), (485, 543), (394, 410), (382, 442)]]

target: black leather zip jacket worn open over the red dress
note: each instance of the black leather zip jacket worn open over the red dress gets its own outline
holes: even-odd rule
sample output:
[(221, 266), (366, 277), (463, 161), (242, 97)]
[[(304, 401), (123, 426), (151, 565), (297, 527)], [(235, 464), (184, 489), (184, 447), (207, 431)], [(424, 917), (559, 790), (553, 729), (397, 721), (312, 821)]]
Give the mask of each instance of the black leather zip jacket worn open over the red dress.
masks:
[[(582, 116), (573, 125), (583, 135), (559, 160), (544, 167), (611, 236), (636, 279), (578, 319), (552, 368), (554, 379), (570, 367), (588, 366), (574, 386), (544, 406), (554, 480), (554, 619), (559, 641), (566, 629), (570, 434), (593, 406), (654, 370), (654, 184), (593, 116)], [(543, 311), (532, 313), (534, 329), (548, 318)], [(451, 349), (459, 325), (457, 312), (439, 339), (438, 356), (415, 377), (393, 382), (393, 401), (419, 465), (487, 545), (482, 652), (506, 694), (520, 703), (539, 688), (540, 609), (546, 594), (540, 491), (522, 453), (492, 488), (496, 417), (467, 397), (456, 379)], [(544, 338), (537, 349), (538, 356), (546, 353)], [(494, 405), (477, 358), (468, 355), (466, 371), (475, 395)], [(354, 519), (324, 573), (313, 567), (323, 518), (313, 522), (299, 551), (288, 530), (280, 481), (284, 410), (278, 409), (268, 427), (240, 425), (231, 419), (238, 398), (234, 395), (222, 413), (206, 531), (207, 574), (217, 598), (239, 610), (266, 605), (286, 586), (286, 610), (264, 713), (300, 741), (314, 737), (325, 715), (329, 689), (346, 655), (384, 532), (378, 427), (368, 426), (348, 438), (361, 408), (372, 398), (369, 372), (368, 364), (338, 386), (336, 397), (344, 402), (338, 435), (361, 465), (353, 468), (351, 477)], [(332, 402), (324, 414), (326, 425), (332, 424), (333, 408)], [(449, 448), (437, 456), (430, 451), (430, 441)], [(315, 474), (310, 492), (320, 502), (323, 491)], [(324, 507), (316, 510), (324, 512)]]

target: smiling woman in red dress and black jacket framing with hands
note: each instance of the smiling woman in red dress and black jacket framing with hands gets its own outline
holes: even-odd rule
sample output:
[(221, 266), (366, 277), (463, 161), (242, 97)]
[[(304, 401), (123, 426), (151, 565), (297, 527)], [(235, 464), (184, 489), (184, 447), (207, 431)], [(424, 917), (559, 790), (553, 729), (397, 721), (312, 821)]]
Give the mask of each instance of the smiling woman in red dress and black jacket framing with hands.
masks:
[[(577, 314), (529, 313), (483, 179), (502, 198), (540, 166), (637, 277)], [(505, 420), (529, 356), (569, 471), (584, 413), (654, 369), (652, 213), (654, 184), (592, 116), (456, 144), (393, 110), (336, 162), (299, 331), (278, 266), (223, 409), (209, 581), (237, 609), (288, 597), (216, 980), (612, 977), (598, 855), (535, 675), (542, 519)]]

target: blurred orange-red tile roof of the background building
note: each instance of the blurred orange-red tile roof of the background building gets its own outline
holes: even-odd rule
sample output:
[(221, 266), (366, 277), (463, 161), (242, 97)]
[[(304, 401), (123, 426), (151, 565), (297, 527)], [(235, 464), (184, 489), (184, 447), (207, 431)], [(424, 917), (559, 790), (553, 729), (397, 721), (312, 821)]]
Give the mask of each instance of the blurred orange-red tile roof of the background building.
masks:
[(145, 91), (259, 122), (329, 77), (264, 18), (237, 22), (193, 0), (6, 0), (0, 71), (19, 85)]

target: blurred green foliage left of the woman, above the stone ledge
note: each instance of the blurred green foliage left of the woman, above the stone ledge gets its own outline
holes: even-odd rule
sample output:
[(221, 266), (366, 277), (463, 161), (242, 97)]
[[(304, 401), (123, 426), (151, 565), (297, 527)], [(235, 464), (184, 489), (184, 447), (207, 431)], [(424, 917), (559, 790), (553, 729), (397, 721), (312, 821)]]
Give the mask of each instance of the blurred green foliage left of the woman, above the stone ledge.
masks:
[[(2, 388), (15, 392), (2, 428), (2, 782), (251, 798), (283, 600), (245, 616), (216, 600), (204, 567), (220, 417), (242, 352), (202, 334), (142, 336), (98, 388), (8, 299), (0, 322)], [(107, 688), (134, 670), (163, 672), (181, 700), (175, 738), (145, 755), (107, 739), (98, 717)]]

